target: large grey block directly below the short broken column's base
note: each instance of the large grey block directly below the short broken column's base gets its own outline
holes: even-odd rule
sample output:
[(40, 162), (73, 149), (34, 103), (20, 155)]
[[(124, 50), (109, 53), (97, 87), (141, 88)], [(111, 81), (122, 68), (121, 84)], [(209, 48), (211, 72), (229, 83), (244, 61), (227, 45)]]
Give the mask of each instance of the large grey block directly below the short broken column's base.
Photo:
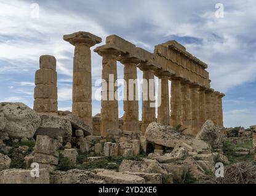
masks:
[(48, 135), (50, 138), (62, 137), (64, 143), (71, 141), (72, 126), (67, 119), (53, 115), (53, 114), (40, 114), (41, 124), (36, 130), (37, 135)]

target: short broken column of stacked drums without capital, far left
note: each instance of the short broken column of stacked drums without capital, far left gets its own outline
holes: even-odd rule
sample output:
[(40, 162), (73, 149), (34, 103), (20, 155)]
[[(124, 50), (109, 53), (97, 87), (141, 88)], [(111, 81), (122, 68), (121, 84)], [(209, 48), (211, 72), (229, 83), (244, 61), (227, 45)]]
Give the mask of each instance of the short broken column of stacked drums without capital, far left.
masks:
[(39, 62), (40, 69), (35, 77), (34, 110), (55, 113), (58, 111), (56, 59), (44, 55)]

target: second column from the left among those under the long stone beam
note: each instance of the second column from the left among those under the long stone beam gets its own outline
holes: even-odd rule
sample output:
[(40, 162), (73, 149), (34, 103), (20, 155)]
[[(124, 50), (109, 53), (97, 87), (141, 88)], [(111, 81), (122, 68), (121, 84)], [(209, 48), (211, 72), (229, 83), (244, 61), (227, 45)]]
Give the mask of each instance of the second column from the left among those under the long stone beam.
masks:
[(124, 81), (126, 81), (126, 85), (124, 85), (123, 130), (128, 132), (140, 132), (140, 124), (138, 122), (138, 84), (136, 66), (139, 61), (134, 58), (126, 58), (123, 56), (120, 62), (124, 64)]

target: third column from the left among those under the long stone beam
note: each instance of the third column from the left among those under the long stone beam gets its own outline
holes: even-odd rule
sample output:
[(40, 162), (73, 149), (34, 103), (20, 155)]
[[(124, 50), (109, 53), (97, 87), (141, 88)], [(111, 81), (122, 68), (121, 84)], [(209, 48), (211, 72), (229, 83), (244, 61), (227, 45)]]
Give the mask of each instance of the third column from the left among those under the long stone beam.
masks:
[(156, 118), (156, 108), (154, 100), (154, 69), (140, 64), (140, 69), (143, 71), (143, 94), (142, 94), (142, 135), (145, 134), (146, 128), (150, 123), (153, 123)]

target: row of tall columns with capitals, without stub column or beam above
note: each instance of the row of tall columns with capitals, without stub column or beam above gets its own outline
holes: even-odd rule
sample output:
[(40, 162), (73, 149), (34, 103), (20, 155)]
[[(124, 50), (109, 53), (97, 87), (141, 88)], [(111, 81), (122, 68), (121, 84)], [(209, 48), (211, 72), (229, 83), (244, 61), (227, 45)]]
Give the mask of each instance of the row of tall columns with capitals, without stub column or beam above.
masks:
[[(74, 50), (74, 70), (73, 70), (73, 113), (78, 115), (83, 121), (92, 127), (92, 74), (90, 61), (90, 47), (100, 43), (100, 37), (89, 32), (76, 32), (64, 36), (64, 40), (75, 46)], [(222, 97), (223, 94), (214, 92), (213, 89), (203, 88), (196, 83), (177, 77), (167, 71), (148, 69), (143, 66), (143, 62), (124, 55), (115, 47), (101, 48), (96, 51), (103, 57), (102, 79), (106, 90), (102, 94), (107, 95), (106, 100), (102, 100), (101, 110), (101, 134), (106, 135), (108, 129), (118, 129), (118, 100), (110, 99), (109, 95), (116, 92), (114, 82), (117, 79), (117, 59), (124, 65), (124, 80), (127, 85), (124, 92), (125, 97), (129, 97), (129, 79), (137, 79), (137, 65), (143, 71), (143, 79), (150, 80), (156, 75), (161, 81), (161, 94), (158, 100), (161, 104), (158, 107), (158, 122), (177, 126), (181, 124), (187, 128), (187, 134), (196, 135), (202, 124), (207, 119), (212, 119), (214, 123), (223, 126), (222, 119)], [(113, 75), (113, 80), (109, 75)], [(169, 97), (169, 80), (172, 81), (170, 88), (172, 96)], [(148, 83), (146, 84), (148, 85)], [(112, 88), (110, 87), (112, 86)], [(134, 99), (124, 100), (124, 125), (123, 130), (127, 132), (140, 132), (138, 121), (138, 100), (136, 99), (137, 86), (134, 83)], [(144, 84), (143, 84), (144, 86)], [(154, 91), (148, 88), (149, 91)], [(113, 92), (113, 93), (110, 93)], [(148, 124), (155, 119), (156, 108), (150, 107), (150, 99), (143, 100), (142, 103), (142, 134)], [(171, 112), (170, 112), (171, 111)]]

